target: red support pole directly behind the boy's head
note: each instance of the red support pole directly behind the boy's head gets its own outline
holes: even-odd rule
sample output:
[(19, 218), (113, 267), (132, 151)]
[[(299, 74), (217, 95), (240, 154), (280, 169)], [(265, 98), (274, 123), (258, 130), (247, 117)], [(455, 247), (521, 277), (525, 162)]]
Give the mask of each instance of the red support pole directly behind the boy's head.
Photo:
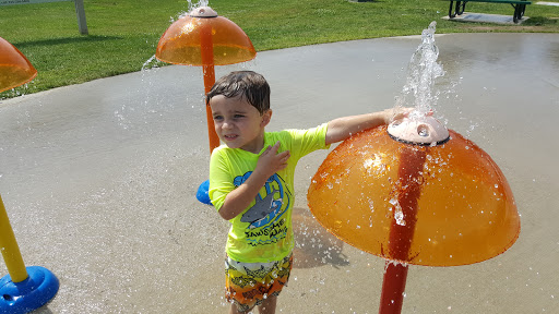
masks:
[[(214, 46), (212, 40), (212, 26), (205, 25), (200, 29), (200, 44), (202, 53), (202, 64), (204, 71), (204, 93), (207, 94), (215, 83), (214, 71)], [(215, 147), (219, 146), (219, 137), (215, 133), (214, 119), (212, 117), (212, 109), (206, 104), (205, 114), (207, 118), (207, 136), (210, 140), (210, 153)]]

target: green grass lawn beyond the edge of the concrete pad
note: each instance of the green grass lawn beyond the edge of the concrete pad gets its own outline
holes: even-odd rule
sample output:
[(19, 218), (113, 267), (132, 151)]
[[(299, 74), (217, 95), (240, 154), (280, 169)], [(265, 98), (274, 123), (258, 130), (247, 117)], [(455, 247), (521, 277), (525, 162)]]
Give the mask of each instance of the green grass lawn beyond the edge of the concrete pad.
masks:
[[(88, 35), (78, 32), (73, 2), (0, 7), (0, 37), (17, 47), (38, 71), (27, 87), (4, 92), (2, 97), (140, 71), (171, 20), (189, 10), (188, 1), (177, 0), (84, 2)], [(559, 8), (535, 4), (526, 8), (531, 20), (507, 26), (444, 21), (449, 1), (443, 0), (211, 0), (210, 5), (239, 25), (258, 51), (418, 35), (431, 21), (437, 21), (438, 34), (559, 33)], [(471, 2), (466, 11), (512, 15), (513, 9)]]

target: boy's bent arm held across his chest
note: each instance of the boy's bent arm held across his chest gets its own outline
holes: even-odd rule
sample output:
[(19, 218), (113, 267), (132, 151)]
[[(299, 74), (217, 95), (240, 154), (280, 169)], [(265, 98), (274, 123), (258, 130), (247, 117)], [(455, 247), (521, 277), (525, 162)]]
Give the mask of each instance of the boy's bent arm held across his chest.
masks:
[(224, 219), (230, 220), (247, 209), (257, 197), (260, 189), (264, 186), (266, 180), (275, 172), (287, 167), (287, 159), (290, 156), (289, 150), (277, 154), (277, 149), (280, 149), (280, 142), (274, 146), (267, 146), (247, 181), (225, 196), (225, 202), (219, 208), (219, 215)]

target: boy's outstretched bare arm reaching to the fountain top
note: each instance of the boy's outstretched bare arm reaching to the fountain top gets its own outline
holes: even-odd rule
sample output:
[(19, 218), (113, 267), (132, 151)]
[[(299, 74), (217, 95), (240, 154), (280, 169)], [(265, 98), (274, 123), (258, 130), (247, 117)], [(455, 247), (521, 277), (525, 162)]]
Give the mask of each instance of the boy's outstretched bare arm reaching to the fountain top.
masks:
[(386, 109), (384, 111), (337, 118), (329, 122), (326, 131), (326, 145), (349, 138), (364, 130), (382, 124), (389, 124), (393, 119), (399, 119), (412, 109)]

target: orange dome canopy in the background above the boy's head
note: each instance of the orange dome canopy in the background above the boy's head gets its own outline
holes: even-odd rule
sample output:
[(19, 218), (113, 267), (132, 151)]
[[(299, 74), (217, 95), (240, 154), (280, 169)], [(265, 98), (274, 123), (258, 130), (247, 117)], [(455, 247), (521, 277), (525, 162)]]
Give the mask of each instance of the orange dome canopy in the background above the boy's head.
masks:
[[(203, 58), (204, 49), (213, 49), (213, 60)], [(207, 7), (173, 23), (159, 39), (155, 52), (160, 61), (183, 65), (226, 65), (249, 61), (255, 56), (247, 34)]]

